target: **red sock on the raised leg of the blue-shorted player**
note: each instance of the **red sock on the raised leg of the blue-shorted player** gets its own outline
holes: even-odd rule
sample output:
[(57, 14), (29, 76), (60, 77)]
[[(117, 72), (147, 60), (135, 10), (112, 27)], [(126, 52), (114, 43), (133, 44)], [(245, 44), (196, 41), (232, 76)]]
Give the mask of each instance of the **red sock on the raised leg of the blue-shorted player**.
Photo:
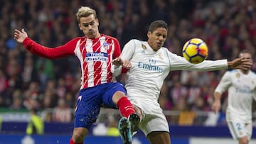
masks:
[(123, 96), (119, 101), (117, 101), (117, 106), (122, 116), (128, 118), (132, 113), (135, 113), (134, 108), (132, 107), (131, 102), (127, 99), (126, 96)]

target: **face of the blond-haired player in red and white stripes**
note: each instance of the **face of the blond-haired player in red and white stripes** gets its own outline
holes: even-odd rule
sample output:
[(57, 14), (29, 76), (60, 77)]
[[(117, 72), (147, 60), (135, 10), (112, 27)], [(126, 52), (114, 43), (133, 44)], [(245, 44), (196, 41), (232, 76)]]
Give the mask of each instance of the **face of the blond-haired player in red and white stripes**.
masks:
[(80, 23), (78, 23), (78, 26), (87, 38), (100, 37), (98, 29), (99, 21), (97, 20), (97, 18), (95, 18), (93, 14), (87, 17), (80, 18)]

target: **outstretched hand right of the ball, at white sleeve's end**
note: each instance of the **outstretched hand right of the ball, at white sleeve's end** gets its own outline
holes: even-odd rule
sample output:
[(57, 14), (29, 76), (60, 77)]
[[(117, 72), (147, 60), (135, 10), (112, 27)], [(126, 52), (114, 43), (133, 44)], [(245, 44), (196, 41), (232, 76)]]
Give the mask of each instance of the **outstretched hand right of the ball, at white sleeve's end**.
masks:
[(244, 59), (243, 57), (236, 58), (231, 62), (228, 62), (228, 68), (231, 69), (241, 69), (241, 70), (250, 70), (252, 67), (252, 61)]

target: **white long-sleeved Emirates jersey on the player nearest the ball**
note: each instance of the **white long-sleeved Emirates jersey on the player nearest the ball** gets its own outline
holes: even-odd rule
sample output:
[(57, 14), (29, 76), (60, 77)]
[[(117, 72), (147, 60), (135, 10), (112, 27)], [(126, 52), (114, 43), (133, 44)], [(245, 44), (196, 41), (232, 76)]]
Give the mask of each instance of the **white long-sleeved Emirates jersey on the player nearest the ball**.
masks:
[(124, 45), (121, 58), (129, 60), (132, 64), (127, 72), (125, 85), (128, 98), (156, 103), (164, 79), (170, 71), (210, 71), (228, 68), (227, 60), (205, 60), (194, 65), (167, 48), (154, 51), (146, 41), (140, 40), (130, 40)]

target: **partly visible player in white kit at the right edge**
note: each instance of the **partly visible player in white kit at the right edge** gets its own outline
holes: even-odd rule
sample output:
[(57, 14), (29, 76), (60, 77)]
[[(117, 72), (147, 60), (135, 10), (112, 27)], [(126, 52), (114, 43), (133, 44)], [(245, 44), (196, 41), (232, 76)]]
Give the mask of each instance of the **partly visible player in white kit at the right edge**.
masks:
[[(249, 51), (240, 52), (240, 57), (252, 60)], [(212, 109), (220, 110), (220, 98), (228, 89), (226, 121), (234, 140), (248, 144), (252, 136), (252, 101), (256, 99), (256, 74), (251, 70), (227, 71), (215, 89)]]

